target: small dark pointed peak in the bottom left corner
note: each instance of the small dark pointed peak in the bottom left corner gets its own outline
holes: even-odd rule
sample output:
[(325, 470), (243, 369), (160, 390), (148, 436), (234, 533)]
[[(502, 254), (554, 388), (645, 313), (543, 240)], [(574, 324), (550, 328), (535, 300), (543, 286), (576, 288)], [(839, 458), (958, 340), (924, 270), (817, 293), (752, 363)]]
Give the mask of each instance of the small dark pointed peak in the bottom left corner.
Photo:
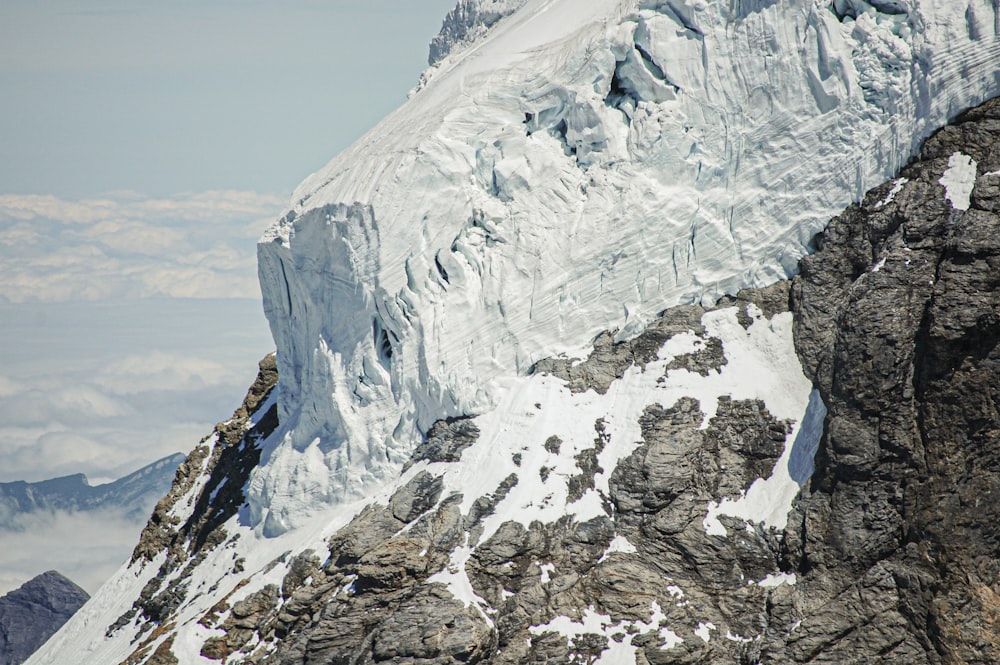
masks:
[(0, 597), (0, 665), (20, 665), (90, 598), (50, 570)]

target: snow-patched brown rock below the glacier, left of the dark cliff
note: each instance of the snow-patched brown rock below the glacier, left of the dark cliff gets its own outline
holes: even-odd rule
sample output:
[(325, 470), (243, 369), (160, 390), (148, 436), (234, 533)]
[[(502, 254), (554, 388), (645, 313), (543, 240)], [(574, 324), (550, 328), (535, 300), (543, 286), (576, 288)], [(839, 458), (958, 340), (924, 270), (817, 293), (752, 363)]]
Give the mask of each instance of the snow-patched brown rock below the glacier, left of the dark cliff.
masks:
[[(787, 302), (784, 284), (720, 305), (735, 305), (749, 325), (750, 309), (774, 316)], [(695, 334), (699, 350), (666, 371), (717, 371), (727, 360), (701, 324), (706, 311), (669, 310), (633, 340), (616, 343), (609, 333), (585, 361), (535, 369), (561, 376), (574, 391), (601, 393), (628, 367), (654, 360), (673, 336)], [(203, 625), (224, 635), (206, 641), (201, 655), (261, 665), (555, 663), (592, 660), (618, 643), (648, 662), (742, 658), (756, 643), (706, 637), (765, 630), (772, 589), (754, 582), (779, 570), (780, 541), (728, 517), (729, 533), (710, 535), (705, 508), (767, 476), (790, 426), (759, 401), (726, 398), (703, 420), (694, 399), (652, 404), (639, 423), (640, 445), (610, 476), (604, 516), (504, 521), (488, 536), (485, 521), (511, 488), (537, 480), (513, 474), (463, 511), (462, 495), (443, 493), (441, 473), (461, 463), (480, 432), (471, 419), (440, 421), (413, 455), (423, 470), (411, 468), (384, 506), (369, 505), (334, 534), (327, 554), (293, 562), (295, 583), (286, 578), (280, 593), (265, 587), (206, 615)], [(593, 432), (593, 445), (572, 457), (569, 503), (593, 490), (604, 471), (602, 419)], [(558, 436), (544, 447), (569, 454)], [(464, 591), (455, 581), (463, 577)], [(593, 617), (597, 629), (588, 624)], [(560, 622), (586, 628), (567, 637)]]

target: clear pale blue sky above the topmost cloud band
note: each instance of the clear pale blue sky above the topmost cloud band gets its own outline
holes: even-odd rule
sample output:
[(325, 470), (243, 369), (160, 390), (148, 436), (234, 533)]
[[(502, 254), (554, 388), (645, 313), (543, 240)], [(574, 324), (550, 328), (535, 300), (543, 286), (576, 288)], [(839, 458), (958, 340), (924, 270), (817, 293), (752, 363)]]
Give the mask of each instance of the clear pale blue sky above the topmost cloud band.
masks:
[(286, 193), (405, 100), (454, 0), (4, 0), (0, 193)]

